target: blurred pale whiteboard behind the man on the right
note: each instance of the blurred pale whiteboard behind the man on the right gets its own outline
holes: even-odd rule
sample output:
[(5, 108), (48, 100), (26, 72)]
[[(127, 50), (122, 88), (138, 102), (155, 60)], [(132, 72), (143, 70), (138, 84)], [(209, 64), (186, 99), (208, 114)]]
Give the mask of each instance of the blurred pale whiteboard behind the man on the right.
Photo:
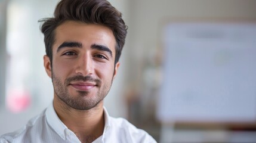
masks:
[(255, 23), (171, 23), (162, 33), (159, 120), (256, 121)]

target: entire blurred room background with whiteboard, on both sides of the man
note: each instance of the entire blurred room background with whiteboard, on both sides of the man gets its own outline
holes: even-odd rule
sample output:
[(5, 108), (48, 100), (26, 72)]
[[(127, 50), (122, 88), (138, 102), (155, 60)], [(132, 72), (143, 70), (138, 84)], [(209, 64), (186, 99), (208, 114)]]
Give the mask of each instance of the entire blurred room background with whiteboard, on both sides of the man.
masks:
[[(38, 20), (57, 0), (0, 0), (0, 135), (53, 100)], [(256, 1), (110, 0), (129, 26), (105, 99), (158, 142), (256, 142)]]

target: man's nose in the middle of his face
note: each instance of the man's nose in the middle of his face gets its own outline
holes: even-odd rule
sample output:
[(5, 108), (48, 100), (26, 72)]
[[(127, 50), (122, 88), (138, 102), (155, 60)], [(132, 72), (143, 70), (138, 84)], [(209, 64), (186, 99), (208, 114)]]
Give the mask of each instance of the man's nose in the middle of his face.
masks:
[(82, 76), (93, 74), (94, 64), (92, 57), (89, 54), (79, 56), (76, 64), (78, 65), (76, 67), (77, 74), (81, 74)]

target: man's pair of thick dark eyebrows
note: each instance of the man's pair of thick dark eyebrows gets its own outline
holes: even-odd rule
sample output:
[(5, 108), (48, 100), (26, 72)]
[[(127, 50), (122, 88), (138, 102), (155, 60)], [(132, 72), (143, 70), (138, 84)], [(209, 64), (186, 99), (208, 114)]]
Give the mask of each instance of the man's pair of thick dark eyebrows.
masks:
[[(73, 47), (76, 47), (76, 48), (82, 48), (82, 43), (80, 42), (63, 42), (61, 43), (60, 46), (58, 46), (57, 48), (57, 52), (60, 51), (61, 48), (65, 48), (65, 47), (70, 47), (70, 48), (73, 48)], [(98, 49), (100, 51), (106, 51), (110, 54), (110, 56), (112, 57), (112, 51), (107, 47), (107, 46), (104, 46), (104, 45), (99, 45), (97, 43), (94, 43), (91, 45), (91, 48), (92, 49)]]

